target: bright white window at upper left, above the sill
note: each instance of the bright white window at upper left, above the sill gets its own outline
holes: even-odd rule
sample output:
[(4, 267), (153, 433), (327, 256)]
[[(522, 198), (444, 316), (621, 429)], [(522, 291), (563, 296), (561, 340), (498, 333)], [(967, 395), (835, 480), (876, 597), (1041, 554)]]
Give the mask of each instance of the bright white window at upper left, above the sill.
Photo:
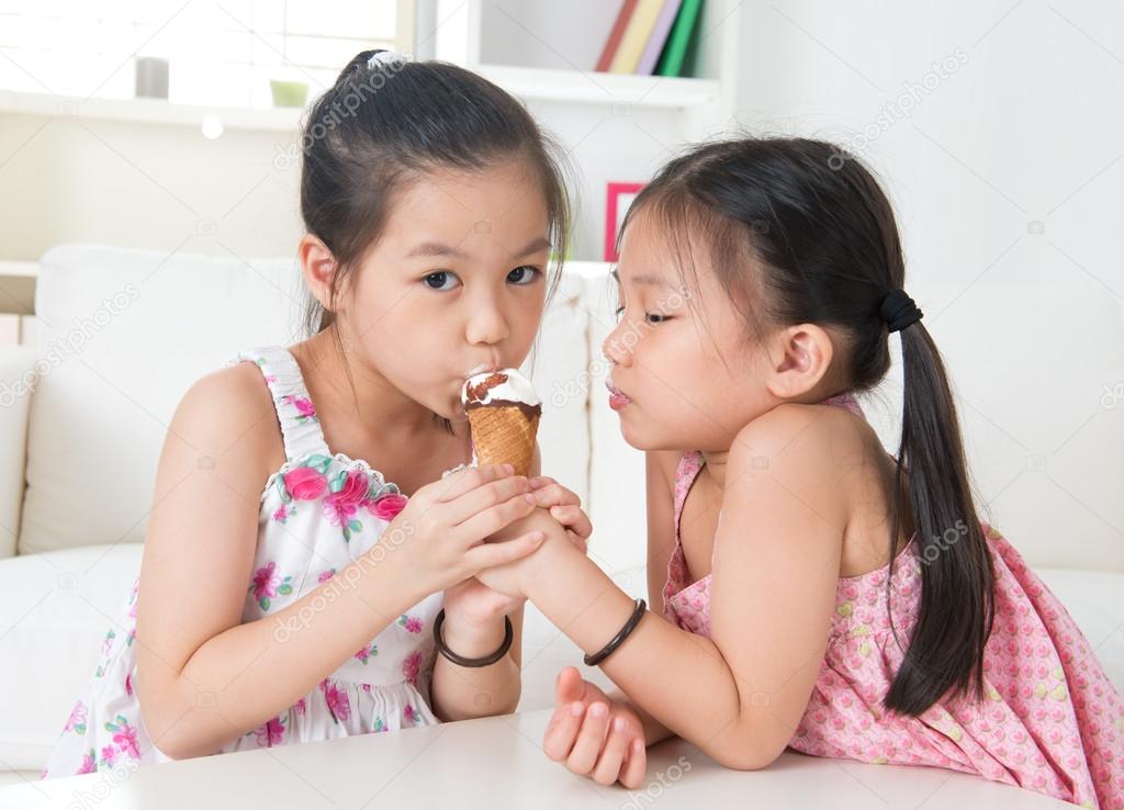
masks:
[(136, 60), (166, 60), (169, 100), (272, 106), (272, 80), (315, 98), (360, 51), (410, 51), (402, 0), (0, 0), (0, 89), (132, 99)]

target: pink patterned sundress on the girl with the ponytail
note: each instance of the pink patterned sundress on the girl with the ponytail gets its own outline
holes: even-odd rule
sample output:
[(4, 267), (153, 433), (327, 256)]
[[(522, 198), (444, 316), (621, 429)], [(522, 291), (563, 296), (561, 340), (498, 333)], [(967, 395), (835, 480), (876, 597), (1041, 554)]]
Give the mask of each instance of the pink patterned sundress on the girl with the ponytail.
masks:
[[(852, 394), (822, 404), (865, 418)], [(710, 576), (692, 580), (679, 536), (701, 454), (676, 473), (676, 545), (664, 615), (710, 635)], [(982, 524), (995, 570), (995, 626), (984, 658), (984, 702), (942, 699), (921, 717), (881, 704), (904, 652), (887, 619), (889, 566), (839, 580), (827, 652), (789, 747), (861, 762), (933, 765), (1055, 799), (1124, 810), (1124, 699), (1066, 608), (996, 529)], [(923, 558), (917, 537), (894, 561), (890, 603), (903, 643), (916, 621)]]

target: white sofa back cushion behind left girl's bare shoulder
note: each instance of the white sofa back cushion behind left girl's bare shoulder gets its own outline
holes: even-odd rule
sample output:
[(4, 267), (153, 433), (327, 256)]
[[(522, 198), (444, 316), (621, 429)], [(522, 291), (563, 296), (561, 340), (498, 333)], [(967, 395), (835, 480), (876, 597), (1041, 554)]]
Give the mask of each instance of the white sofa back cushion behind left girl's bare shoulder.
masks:
[(291, 260), (48, 251), (19, 553), (139, 541), (183, 393), (241, 348), (293, 342), (300, 304)]

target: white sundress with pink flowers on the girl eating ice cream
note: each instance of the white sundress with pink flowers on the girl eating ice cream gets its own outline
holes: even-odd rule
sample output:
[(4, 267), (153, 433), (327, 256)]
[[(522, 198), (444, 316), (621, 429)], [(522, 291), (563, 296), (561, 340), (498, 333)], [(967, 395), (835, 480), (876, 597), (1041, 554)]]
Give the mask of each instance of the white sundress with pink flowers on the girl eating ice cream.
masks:
[[(300, 366), (283, 346), (239, 352), (226, 365), (255, 363), (273, 395), (285, 463), (261, 495), (257, 548), (242, 621), (256, 621), (326, 584), (368, 552), (406, 506), (398, 486), (366, 462), (332, 454)], [(136, 695), (134, 583), (106, 634), (101, 661), (52, 749), (40, 777), (111, 768), (125, 758), (167, 762), (148, 737)], [(432, 624), (443, 594), (410, 608), (294, 704), (216, 754), (439, 722), (429, 708)], [(285, 632), (279, 622), (275, 637)], [(290, 630), (291, 631), (291, 630)], [(299, 630), (298, 630), (299, 631)]]

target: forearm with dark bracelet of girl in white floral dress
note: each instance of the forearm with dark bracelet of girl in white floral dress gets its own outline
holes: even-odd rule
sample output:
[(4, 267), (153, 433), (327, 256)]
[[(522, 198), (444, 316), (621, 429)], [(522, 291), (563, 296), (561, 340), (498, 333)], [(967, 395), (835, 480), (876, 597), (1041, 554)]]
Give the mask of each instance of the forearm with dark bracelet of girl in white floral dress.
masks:
[[(465, 658), (482, 658), (499, 649), (502, 617), (487, 626), (446, 616), (442, 628), (450, 649)], [(523, 682), (515, 648), (488, 666), (459, 666), (441, 653), (433, 671), (433, 711), (443, 721), (509, 715), (519, 703)]]

